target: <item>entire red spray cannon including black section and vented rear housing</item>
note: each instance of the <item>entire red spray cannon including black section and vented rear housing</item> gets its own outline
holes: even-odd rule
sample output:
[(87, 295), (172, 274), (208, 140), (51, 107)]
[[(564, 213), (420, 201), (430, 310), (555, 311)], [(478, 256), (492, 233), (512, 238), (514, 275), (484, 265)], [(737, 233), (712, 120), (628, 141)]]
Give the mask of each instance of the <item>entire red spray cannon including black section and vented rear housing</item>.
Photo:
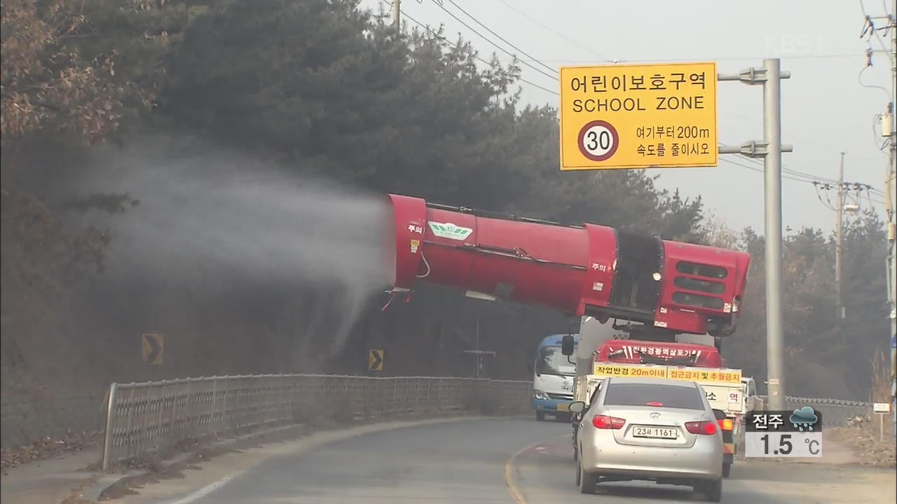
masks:
[(389, 199), (394, 292), (426, 282), (475, 298), (631, 320), (661, 332), (723, 336), (735, 330), (751, 259), (745, 252), (411, 196)]

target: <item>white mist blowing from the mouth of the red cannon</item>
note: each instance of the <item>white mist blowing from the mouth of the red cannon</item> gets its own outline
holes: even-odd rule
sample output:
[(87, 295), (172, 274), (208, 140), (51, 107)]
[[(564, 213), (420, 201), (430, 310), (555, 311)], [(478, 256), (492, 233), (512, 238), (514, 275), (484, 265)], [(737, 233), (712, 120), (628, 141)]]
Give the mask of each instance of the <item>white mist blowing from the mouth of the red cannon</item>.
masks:
[(226, 290), (234, 279), (314, 291), (315, 307), (294, 346), (301, 354), (310, 338), (341, 349), (371, 295), (391, 280), (382, 256), (391, 208), (383, 195), (231, 154), (102, 152), (91, 169), (97, 177), (83, 190), (139, 200), (109, 222), (107, 276), (176, 282), (199, 295)]

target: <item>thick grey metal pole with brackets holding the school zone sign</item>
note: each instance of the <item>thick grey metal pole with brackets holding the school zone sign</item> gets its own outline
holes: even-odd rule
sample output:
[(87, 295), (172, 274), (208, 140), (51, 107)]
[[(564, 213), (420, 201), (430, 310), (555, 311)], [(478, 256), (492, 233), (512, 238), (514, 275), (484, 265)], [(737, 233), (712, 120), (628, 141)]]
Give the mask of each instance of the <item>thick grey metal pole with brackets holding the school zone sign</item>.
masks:
[(779, 58), (764, 59), (760, 68), (748, 68), (739, 74), (717, 76), (718, 81), (740, 81), (763, 85), (763, 141), (739, 146), (720, 146), (721, 154), (742, 154), (763, 158), (764, 233), (766, 239), (766, 382), (770, 411), (784, 411), (785, 395), (781, 380), (784, 335), (782, 330), (782, 145), (781, 79), (791, 77), (780, 71)]

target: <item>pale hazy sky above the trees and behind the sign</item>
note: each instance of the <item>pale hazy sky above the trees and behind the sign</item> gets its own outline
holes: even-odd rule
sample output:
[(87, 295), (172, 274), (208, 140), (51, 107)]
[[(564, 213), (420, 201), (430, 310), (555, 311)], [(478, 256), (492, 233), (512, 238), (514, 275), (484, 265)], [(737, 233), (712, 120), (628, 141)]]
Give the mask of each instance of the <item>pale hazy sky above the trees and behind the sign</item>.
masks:
[[(823, 4), (807, 0), (454, 1), (501, 38), (552, 67), (602, 65), (613, 60), (716, 61), (718, 72), (731, 74), (762, 66), (764, 57), (779, 57), (782, 70), (791, 72), (791, 78), (782, 82), (782, 141), (793, 144), (794, 152), (782, 154), (784, 168), (820, 180), (837, 178), (840, 152), (846, 152), (845, 180), (872, 185), (879, 191), (872, 199), (884, 201), (887, 156), (876, 145), (881, 144), (881, 137), (874, 120), (889, 100), (890, 62), (886, 54), (876, 54), (874, 65), (862, 74), (863, 83), (887, 91), (863, 87), (859, 74), (867, 65), (870, 42), (861, 39), (860, 33), (863, 8), (869, 15), (883, 15), (885, 8), (893, 12), (893, 0), (865, 0), (865, 4), (845, 0)], [(382, 8), (388, 12), (389, 8), (382, 0), (362, 0), (361, 5), (375, 11)], [(449, 0), (404, 0), (402, 10), (431, 27), (444, 25), (449, 40), (457, 40), (460, 34), (484, 59), (495, 53), (507, 62), (510, 56), (471, 28), (532, 63), (457, 5)], [(408, 17), (404, 22), (409, 29), (417, 27)], [(876, 39), (871, 46), (882, 48)], [(522, 70), (527, 81), (557, 91), (555, 80), (526, 65)], [(521, 85), (525, 102), (557, 107), (558, 97), (552, 92)], [(762, 86), (719, 83), (719, 141), (734, 144), (762, 137)], [(650, 171), (662, 174), (661, 187), (679, 187), (685, 196), (703, 196), (707, 209), (730, 227), (753, 226), (762, 232), (763, 176), (757, 171), (762, 170), (762, 161), (730, 154), (720, 154), (719, 160), (715, 168)], [(788, 227), (804, 225), (831, 230), (834, 213), (820, 201), (812, 178), (793, 172), (786, 177), (799, 179), (782, 181), (786, 232)], [(830, 194), (833, 198), (834, 192)], [(866, 196), (862, 203), (865, 207), (870, 204)], [(871, 204), (884, 214), (884, 204)]]

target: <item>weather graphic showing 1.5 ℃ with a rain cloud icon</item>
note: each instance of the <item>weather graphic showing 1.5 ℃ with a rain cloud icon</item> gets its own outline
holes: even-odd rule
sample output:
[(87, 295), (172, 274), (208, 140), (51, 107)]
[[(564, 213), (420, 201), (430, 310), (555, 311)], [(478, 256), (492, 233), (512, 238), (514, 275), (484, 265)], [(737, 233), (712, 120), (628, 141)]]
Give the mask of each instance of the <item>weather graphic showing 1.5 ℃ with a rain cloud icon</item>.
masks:
[(745, 418), (745, 456), (823, 456), (823, 415), (810, 406), (751, 412)]

